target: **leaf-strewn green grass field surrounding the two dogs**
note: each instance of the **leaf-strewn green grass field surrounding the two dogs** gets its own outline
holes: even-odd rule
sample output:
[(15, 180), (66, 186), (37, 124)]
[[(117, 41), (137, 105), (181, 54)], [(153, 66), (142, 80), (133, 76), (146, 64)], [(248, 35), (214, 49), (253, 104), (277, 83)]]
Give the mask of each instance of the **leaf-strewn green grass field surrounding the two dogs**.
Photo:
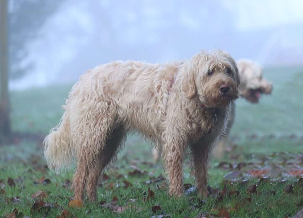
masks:
[[(70, 208), (73, 170), (55, 175), (45, 165), (40, 138), (16, 137), (12, 145), (0, 146), (0, 217), (294, 216), (303, 207), (303, 69), (267, 69), (264, 74), (274, 91), (257, 105), (238, 100), (233, 144), (223, 160), (211, 160), (209, 197), (201, 200), (191, 191), (195, 181), (187, 162), (188, 194), (168, 197), (167, 181), (161, 164), (152, 162), (151, 148), (129, 136), (117, 163), (100, 181), (98, 203)], [(12, 92), (13, 131), (45, 136), (58, 124), (70, 88)], [(37, 191), (43, 194), (35, 198)], [(15, 208), (22, 214), (13, 212)]]

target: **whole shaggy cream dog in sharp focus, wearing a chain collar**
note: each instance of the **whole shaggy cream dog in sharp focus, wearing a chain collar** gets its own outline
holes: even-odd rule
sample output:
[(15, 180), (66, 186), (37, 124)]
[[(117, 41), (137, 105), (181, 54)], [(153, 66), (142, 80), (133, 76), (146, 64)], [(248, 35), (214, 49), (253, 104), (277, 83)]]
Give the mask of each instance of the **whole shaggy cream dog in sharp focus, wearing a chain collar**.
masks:
[(127, 132), (163, 145), (169, 193), (183, 192), (183, 152), (193, 155), (199, 193), (207, 194), (208, 157), (225, 128), (228, 107), (238, 98), (238, 69), (222, 51), (201, 51), (184, 62), (116, 61), (80, 77), (69, 93), (60, 124), (45, 138), (48, 167), (59, 173), (76, 159), (75, 200), (96, 200), (102, 170)]

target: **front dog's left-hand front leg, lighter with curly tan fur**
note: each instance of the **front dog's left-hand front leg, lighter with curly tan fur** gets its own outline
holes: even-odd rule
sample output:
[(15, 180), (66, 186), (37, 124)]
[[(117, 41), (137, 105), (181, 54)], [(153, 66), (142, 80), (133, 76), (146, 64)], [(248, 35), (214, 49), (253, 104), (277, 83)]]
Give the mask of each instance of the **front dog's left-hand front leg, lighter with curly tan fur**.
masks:
[(184, 145), (180, 145), (174, 140), (168, 140), (163, 145), (162, 156), (165, 172), (169, 177), (169, 194), (174, 197), (179, 197), (183, 194), (183, 150)]

